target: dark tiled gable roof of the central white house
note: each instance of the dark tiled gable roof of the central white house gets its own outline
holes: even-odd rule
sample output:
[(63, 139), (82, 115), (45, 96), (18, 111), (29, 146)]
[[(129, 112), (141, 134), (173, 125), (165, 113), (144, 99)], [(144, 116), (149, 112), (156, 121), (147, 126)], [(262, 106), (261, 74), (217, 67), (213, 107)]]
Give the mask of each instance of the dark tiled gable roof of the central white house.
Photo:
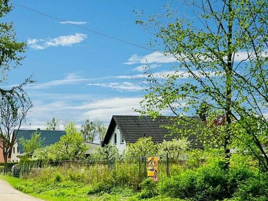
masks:
[[(197, 139), (197, 135), (200, 134), (198, 127), (204, 124), (197, 117), (184, 117), (184, 119), (186, 121), (190, 120), (190, 123), (178, 125), (176, 123), (178, 117), (162, 116), (153, 119), (148, 116), (113, 116), (102, 146), (109, 143), (115, 125), (117, 125), (126, 143), (135, 143), (141, 137), (152, 137), (154, 143), (161, 143), (163, 140), (172, 140), (182, 136), (183, 133), (188, 133), (184, 137), (187, 137), (191, 142), (191, 147), (202, 148), (203, 146)], [(174, 125), (176, 125), (175, 128), (178, 133), (171, 134), (165, 126)]]

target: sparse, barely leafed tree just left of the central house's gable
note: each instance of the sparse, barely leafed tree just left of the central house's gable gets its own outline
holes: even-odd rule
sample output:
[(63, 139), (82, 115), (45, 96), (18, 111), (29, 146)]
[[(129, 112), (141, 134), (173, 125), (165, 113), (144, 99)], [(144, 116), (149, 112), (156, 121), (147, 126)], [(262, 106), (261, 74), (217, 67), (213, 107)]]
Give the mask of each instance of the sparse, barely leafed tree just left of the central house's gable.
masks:
[(85, 142), (93, 142), (97, 137), (99, 137), (101, 142), (106, 133), (106, 127), (102, 121), (90, 121), (87, 119), (82, 123), (80, 132)]

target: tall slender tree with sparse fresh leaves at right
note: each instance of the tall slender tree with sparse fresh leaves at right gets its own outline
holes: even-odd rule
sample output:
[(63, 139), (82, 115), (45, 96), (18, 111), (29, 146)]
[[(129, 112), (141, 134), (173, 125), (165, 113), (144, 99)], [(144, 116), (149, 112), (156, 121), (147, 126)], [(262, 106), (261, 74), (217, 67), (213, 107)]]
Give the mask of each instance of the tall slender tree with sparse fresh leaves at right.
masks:
[[(168, 5), (167, 23), (159, 15), (147, 22), (137, 20), (153, 28), (152, 44), (161, 43), (164, 54), (176, 60), (172, 73), (156, 76), (148, 72), (150, 88), (142, 101), (143, 113), (157, 115), (170, 108), (181, 116), (206, 105), (208, 123), (221, 115), (226, 119), (220, 126), (222, 137), (217, 138), (225, 150), (226, 167), (230, 143), (239, 137), (233, 135), (239, 127), (244, 136), (239, 144), (246, 144), (268, 171), (263, 148), (268, 130), (268, 1), (189, 0), (186, 6), (195, 20), (179, 16)], [(253, 128), (245, 123), (248, 120), (255, 122)]]

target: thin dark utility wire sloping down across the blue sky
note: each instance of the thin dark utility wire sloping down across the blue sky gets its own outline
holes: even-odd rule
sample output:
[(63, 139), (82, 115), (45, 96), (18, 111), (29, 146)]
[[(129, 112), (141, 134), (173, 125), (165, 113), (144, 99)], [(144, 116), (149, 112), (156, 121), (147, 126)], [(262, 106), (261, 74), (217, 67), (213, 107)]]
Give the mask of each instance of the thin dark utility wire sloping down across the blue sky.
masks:
[[(64, 23), (66, 23), (66, 24), (70, 24), (70, 25), (75, 26), (75, 27), (78, 27), (78, 28), (80, 28), (80, 29), (84, 29), (84, 30), (89, 31), (89, 32), (92, 32), (92, 33), (94, 33), (94, 34), (101, 35), (101, 36), (106, 37), (106, 38), (109, 38), (109, 39), (118, 40), (118, 41), (120, 41), (120, 42), (124, 42), (124, 43), (130, 44), (130, 45), (136, 46), (136, 47), (140, 47), (140, 48), (143, 48), (143, 49), (146, 49), (146, 50), (150, 50), (150, 51), (157, 52), (157, 53), (160, 53), (160, 54), (163, 54), (163, 55), (167, 55), (167, 54), (165, 54), (165, 53), (163, 53), (163, 52), (160, 52), (160, 51), (157, 51), (157, 50), (153, 50), (153, 49), (148, 48), (148, 47), (145, 47), (145, 46), (141, 46), (141, 45), (138, 45), (138, 44), (135, 44), (135, 43), (132, 43), (132, 42), (128, 42), (128, 41), (126, 41), (126, 40), (121, 40), (121, 39), (118, 39), (118, 38), (115, 38), (115, 37), (112, 37), (112, 36), (109, 36), (109, 35), (106, 35), (106, 34), (102, 34), (102, 33), (100, 33), (100, 32), (97, 32), (97, 31), (94, 31), (94, 30), (91, 30), (91, 29), (87, 29), (87, 28), (85, 28), (85, 27), (81, 27), (81, 26), (79, 26), (79, 25), (77, 25), (77, 24), (70, 23), (70, 22), (68, 22), (68, 21), (59, 19), (59, 18), (57, 18), (57, 17), (53, 17), (53, 16), (51, 16), (51, 15), (45, 14), (45, 13), (43, 13), (43, 12), (40, 12), (40, 11), (38, 11), (38, 10), (34, 10), (34, 9), (32, 9), (32, 8), (26, 7), (26, 6), (21, 5), (21, 4), (18, 4), (18, 3), (12, 3), (12, 4), (15, 4), (15, 5), (17, 5), (17, 6), (20, 6), (20, 7), (22, 7), (22, 8), (28, 9), (28, 10), (31, 10), (31, 11), (36, 12), (36, 13), (38, 13), (38, 14), (44, 15), (44, 16), (46, 16), (46, 17), (50, 17), (50, 18), (52, 18), (52, 19), (55, 19), (55, 20), (64, 22)], [(173, 56), (173, 55), (169, 55), (169, 56)]]

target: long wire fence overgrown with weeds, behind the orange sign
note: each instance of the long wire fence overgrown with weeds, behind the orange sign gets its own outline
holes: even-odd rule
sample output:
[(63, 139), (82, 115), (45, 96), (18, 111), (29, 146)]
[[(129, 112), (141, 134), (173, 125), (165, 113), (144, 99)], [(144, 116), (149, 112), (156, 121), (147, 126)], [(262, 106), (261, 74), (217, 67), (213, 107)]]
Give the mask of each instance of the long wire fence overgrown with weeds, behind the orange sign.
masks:
[(12, 175), (21, 177), (31, 171), (39, 171), (42, 168), (60, 167), (60, 171), (66, 174), (84, 173), (89, 183), (99, 183), (103, 178), (114, 177), (117, 183), (139, 187), (140, 182), (147, 178), (148, 159), (157, 157), (157, 178), (163, 181), (177, 173), (179, 167), (185, 161), (174, 161), (168, 155), (145, 156), (139, 158), (113, 158), (111, 160), (76, 160), (76, 161), (24, 161), (12, 170)]

